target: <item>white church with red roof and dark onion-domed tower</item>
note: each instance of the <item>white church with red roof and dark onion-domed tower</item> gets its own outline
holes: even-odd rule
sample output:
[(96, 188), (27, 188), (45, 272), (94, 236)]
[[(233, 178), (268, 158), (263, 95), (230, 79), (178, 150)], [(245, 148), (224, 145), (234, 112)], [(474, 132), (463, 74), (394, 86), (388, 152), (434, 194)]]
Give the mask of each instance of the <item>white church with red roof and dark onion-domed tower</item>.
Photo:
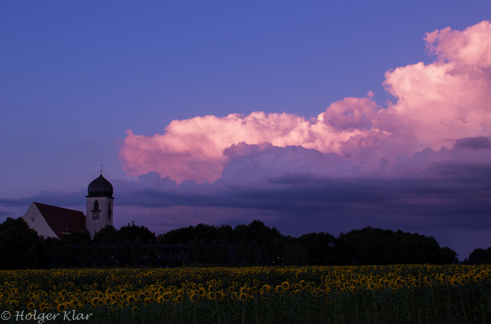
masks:
[(112, 225), (113, 200), (111, 183), (101, 175), (90, 182), (87, 193), (87, 209), (85, 215), (78, 210), (46, 205), (33, 202), (23, 219), (30, 228), (35, 229), (44, 237), (86, 232), (90, 237), (106, 225)]

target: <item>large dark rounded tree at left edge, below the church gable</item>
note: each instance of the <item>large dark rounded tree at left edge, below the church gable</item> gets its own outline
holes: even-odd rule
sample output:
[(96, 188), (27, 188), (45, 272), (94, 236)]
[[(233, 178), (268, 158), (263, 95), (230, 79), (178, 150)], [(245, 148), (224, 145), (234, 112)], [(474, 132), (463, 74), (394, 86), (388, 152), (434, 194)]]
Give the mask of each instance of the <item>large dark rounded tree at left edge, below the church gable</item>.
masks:
[(0, 269), (27, 269), (36, 264), (37, 232), (19, 217), (0, 224)]

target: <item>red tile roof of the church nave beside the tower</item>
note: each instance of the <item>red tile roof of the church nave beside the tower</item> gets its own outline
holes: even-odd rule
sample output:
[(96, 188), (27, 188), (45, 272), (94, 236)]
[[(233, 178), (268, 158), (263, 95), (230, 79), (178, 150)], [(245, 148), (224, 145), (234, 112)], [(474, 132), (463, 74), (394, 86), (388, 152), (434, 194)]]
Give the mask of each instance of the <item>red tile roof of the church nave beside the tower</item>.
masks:
[[(78, 210), (61, 208), (44, 203), (34, 202), (37, 209), (41, 212), (46, 223), (50, 225), (59, 239), (65, 233), (89, 232), (85, 228), (85, 215)], [(89, 233), (90, 234), (90, 233)]]

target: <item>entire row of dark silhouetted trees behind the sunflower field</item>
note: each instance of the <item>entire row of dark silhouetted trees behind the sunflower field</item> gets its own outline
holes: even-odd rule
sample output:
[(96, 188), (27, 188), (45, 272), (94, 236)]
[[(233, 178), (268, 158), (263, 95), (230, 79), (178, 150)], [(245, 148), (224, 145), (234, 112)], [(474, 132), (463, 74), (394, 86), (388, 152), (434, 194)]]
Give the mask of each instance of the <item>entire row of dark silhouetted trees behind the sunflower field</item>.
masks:
[[(39, 236), (22, 219), (7, 218), (0, 224), (0, 268), (51, 268), (63, 266), (68, 245), (80, 245), (78, 258), (82, 265), (107, 264), (109, 245), (116, 245), (112, 257), (120, 265), (137, 264), (142, 245), (155, 250), (155, 233), (134, 222), (121, 228), (108, 225), (94, 234), (79, 232), (64, 235), (61, 240)], [(198, 224), (169, 230), (160, 236), (161, 244), (188, 244), (190, 263), (226, 263), (229, 247), (234, 245), (238, 264), (258, 264), (268, 255), (277, 265), (382, 265), (382, 264), (451, 264), (459, 262), (457, 254), (440, 247), (435, 238), (418, 233), (392, 231), (374, 227), (353, 229), (334, 236), (327, 232), (283, 235), (275, 227), (254, 220), (250, 224)], [(208, 246), (207, 246), (208, 245)], [(101, 248), (102, 247), (102, 248)], [(152, 264), (154, 253), (147, 253)], [(476, 249), (469, 259), (491, 263), (491, 248)], [(231, 260), (228, 260), (229, 262)], [(465, 260), (467, 262), (467, 260)], [(85, 262), (91, 262), (85, 264)]]

